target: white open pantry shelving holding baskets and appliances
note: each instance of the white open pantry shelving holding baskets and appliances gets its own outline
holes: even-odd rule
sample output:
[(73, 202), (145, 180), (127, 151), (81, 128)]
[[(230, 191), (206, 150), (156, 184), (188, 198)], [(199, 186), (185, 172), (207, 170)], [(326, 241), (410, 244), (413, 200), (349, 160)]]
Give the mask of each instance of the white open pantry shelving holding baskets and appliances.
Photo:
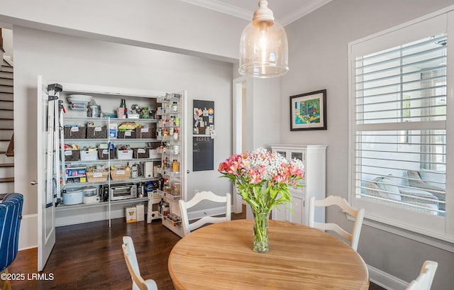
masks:
[[(120, 104), (120, 99), (126, 99), (127, 104), (138, 104), (138, 106), (148, 106), (149, 108), (157, 108), (161, 105), (162, 102), (164, 104), (168, 104), (168, 101), (171, 101), (170, 104), (175, 101), (175, 94), (167, 94), (162, 91), (139, 91), (139, 90), (131, 90), (131, 89), (112, 89), (112, 88), (104, 88), (104, 87), (95, 87), (95, 86), (84, 86), (84, 85), (77, 85), (77, 84), (62, 84), (63, 91), (60, 94), (61, 100), (66, 100), (67, 96), (71, 94), (87, 94), (92, 96), (92, 98), (96, 101), (96, 104), (99, 104), (102, 108), (101, 111), (115, 111), (116, 110), (116, 102)], [(171, 96), (170, 98), (166, 98), (167, 96)], [(182, 92), (179, 94), (181, 96), (178, 98), (179, 108), (181, 106), (181, 99), (186, 95), (186, 92)], [(115, 101), (112, 101), (114, 98)], [(181, 118), (181, 114), (178, 112), (171, 112), (163, 114), (155, 115), (155, 118), (111, 118), (111, 117), (101, 117), (101, 118), (89, 118), (87, 117), (87, 111), (76, 111), (71, 110), (67, 107), (66, 101), (64, 101), (64, 106), (67, 108), (67, 113), (62, 116), (60, 124), (62, 127), (65, 125), (77, 125), (80, 127), (87, 127), (88, 122), (94, 122), (95, 127), (106, 127), (107, 134), (106, 138), (65, 138), (63, 133), (61, 134), (60, 138), (60, 146), (64, 144), (77, 144), (82, 150), (82, 147), (98, 147), (100, 144), (107, 144), (108, 150), (111, 149), (111, 146), (114, 145), (131, 145), (131, 148), (157, 148), (161, 145), (167, 144), (183, 144), (184, 142), (182, 139), (184, 138), (183, 135), (179, 135), (179, 140), (167, 140), (167, 135), (156, 136), (154, 130), (157, 128), (170, 129), (172, 128), (173, 133), (177, 131), (179, 134), (182, 133), (182, 124), (175, 124), (170, 125), (170, 123), (163, 123), (162, 117), (165, 118), (167, 116), (178, 116), (177, 118)], [(179, 119), (178, 122), (182, 120)], [(142, 126), (148, 125), (148, 128), (153, 128), (153, 136), (152, 138), (111, 138), (109, 135), (109, 128), (111, 128), (112, 123), (116, 123), (118, 126), (122, 122), (135, 122), (139, 123)], [(172, 120), (173, 121), (173, 120)], [(138, 131), (136, 131), (138, 132)], [(167, 132), (168, 133), (168, 132)], [(137, 133), (139, 134), (139, 133)], [(170, 135), (169, 135), (170, 136)], [(136, 136), (138, 137), (138, 136)], [(161, 150), (162, 151), (162, 150)], [(109, 151), (110, 152), (110, 151)], [(179, 154), (181, 156), (181, 154)], [(148, 156), (148, 155), (147, 155)], [(166, 155), (165, 155), (166, 156)], [(168, 156), (167, 156), (168, 157)], [(55, 206), (55, 225), (70, 225), (76, 223), (85, 223), (87, 221), (99, 221), (108, 219), (109, 225), (111, 218), (119, 218), (124, 216), (124, 207), (131, 206), (135, 203), (143, 203), (145, 206), (148, 206), (151, 203), (148, 203), (150, 200), (147, 196), (147, 192), (141, 192), (143, 196), (131, 198), (131, 199), (121, 199), (121, 200), (111, 200), (111, 186), (117, 186), (121, 184), (145, 184), (146, 182), (157, 182), (159, 181), (161, 174), (165, 177), (171, 177), (172, 179), (177, 178), (176, 172), (170, 174), (169, 172), (159, 171), (154, 174), (152, 177), (145, 177), (145, 170), (142, 170), (143, 176), (129, 178), (126, 180), (111, 180), (111, 174), (108, 175), (106, 181), (102, 182), (89, 182), (88, 178), (83, 174), (80, 177), (85, 177), (85, 182), (74, 182), (74, 183), (67, 183), (70, 179), (77, 179), (78, 175), (75, 176), (67, 176), (67, 169), (70, 168), (74, 169), (77, 167), (90, 167), (95, 165), (104, 165), (105, 168), (110, 169), (114, 164), (124, 164), (127, 166), (128, 164), (145, 164), (145, 162), (153, 162), (153, 167), (156, 169), (155, 165), (160, 165), (162, 162), (162, 157), (160, 154), (157, 156), (149, 157), (149, 158), (131, 158), (131, 159), (111, 159), (111, 155), (107, 159), (100, 160), (96, 158), (96, 160), (79, 160), (74, 161), (67, 161), (65, 160), (64, 152), (60, 154), (60, 184), (57, 185), (57, 198), (61, 200), (62, 198), (62, 191), (66, 189), (83, 189), (86, 186), (95, 186), (97, 188), (97, 192), (101, 195), (102, 186), (109, 187), (109, 199), (107, 201), (103, 201), (101, 199), (100, 202), (96, 203), (78, 203), (78, 204), (67, 204), (65, 205), (65, 201), (63, 199), (63, 203), (58, 204)], [(184, 168), (184, 160), (178, 159), (179, 167)], [(181, 172), (178, 172), (181, 175)], [(181, 180), (181, 179), (180, 179)], [(140, 186), (137, 186), (139, 188)], [(182, 192), (184, 191), (185, 186), (181, 187)], [(165, 195), (162, 195), (163, 197)], [(167, 197), (165, 197), (167, 199)], [(153, 199), (155, 201), (156, 199)], [(177, 202), (178, 203), (178, 202)], [(175, 209), (178, 211), (178, 208)], [(145, 209), (145, 213), (147, 213)], [(162, 217), (160, 217), (162, 218)], [(165, 218), (164, 218), (165, 219)]]

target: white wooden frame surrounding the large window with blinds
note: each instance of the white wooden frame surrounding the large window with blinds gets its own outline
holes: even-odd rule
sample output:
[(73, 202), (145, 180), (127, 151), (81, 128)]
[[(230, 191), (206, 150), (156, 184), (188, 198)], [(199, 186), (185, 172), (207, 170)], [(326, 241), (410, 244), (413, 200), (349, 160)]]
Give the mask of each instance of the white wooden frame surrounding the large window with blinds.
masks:
[[(445, 27), (443, 31), (434, 31), (433, 27)], [(417, 30), (418, 35), (409, 33), (409, 30)], [(448, 6), (445, 9), (436, 11), (413, 21), (403, 23), (402, 25), (389, 28), (380, 33), (369, 35), (360, 40), (355, 40), (348, 43), (348, 201), (356, 208), (365, 208), (365, 224), (375, 228), (387, 230), (391, 233), (397, 233), (406, 238), (413, 238), (421, 242), (430, 242), (431, 245), (442, 245), (445, 250), (454, 252), (454, 183), (450, 182), (453, 179), (454, 172), (454, 154), (450, 155), (450, 148), (454, 149), (454, 111), (450, 107), (454, 107), (454, 45), (448, 45), (448, 62), (447, 62), (447, 91), (446, 91), (446, 214), (445, 216), (428, 216), (412, 212), (402, 211), (400, 208), (386, 206), (373, 201), (365, 201), (356, 197), (355, 190), (355, 55), (367, 55), (373, 52), (379, 52), (387, 48), (392, 48), (397, 45), (411, 43), (418, 40), (419, 35), (429, 35), (430, 33), (446, 32), (448, 38), (451, 38), (454, 43), (454, 6)], [(425, 35), (425, 36), (426, 36)], [(394, 45), (384, 42), (383, 39), (393, 39)], [(399, 41), (397, 41), (399, 39)], [(449, 41), (449, 40), (448, 40)], [(360, 52), (358, 52), (358, 50)], [(363, 51), (362, 51), (363, 50)], [(451, 85), (450, 85), (451, 84)], [(449, 114), (449, 111), (453, 113)], [(356, 125), (358, 126), (358, 125)], [(380, 128), (377, 124), (377, 128)], [(406, 130), (421, 130), (423, 128), (415, 128), (415, 124), (408, 122)], [(430, 127), (430, 126), (429, 126)], [(372, 129), (373, 130), (373, 129)], [(451, 133), (450, 133), (451, 132)], [(404, 145), (404, 144), (402, 144)], [(453, 151), (453, 150), (451, 150)], [(438, 242), (433, 242), (433, 239)], [(440, 241), (441, 240), (441, 241)], [(447, 243), (446, 243), (447, 242)], [(427, 242), (428, 243), (428, 242)]]

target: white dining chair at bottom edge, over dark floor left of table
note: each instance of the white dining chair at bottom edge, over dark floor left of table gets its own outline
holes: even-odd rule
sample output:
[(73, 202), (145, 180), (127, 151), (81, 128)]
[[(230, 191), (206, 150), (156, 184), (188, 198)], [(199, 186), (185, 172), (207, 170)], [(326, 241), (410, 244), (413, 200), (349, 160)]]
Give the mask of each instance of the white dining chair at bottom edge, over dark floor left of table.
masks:
[(126, 266), (128, 266), (129, 274), (131, 274), (131, 279), (133, 280), (133, 290), (157, 290), (156, 282), (153, 279), (144, 280), (140, 276), (133, 239), (129, 236), (124, 236), (121, 247), (123, 248)]

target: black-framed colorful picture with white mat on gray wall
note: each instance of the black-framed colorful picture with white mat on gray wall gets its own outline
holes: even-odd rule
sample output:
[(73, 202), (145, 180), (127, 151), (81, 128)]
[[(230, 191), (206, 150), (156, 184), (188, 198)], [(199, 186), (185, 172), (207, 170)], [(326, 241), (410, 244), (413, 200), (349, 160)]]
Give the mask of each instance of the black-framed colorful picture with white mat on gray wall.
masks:
[(290, 130), (326, 130), (326, 89), (290, 96)]

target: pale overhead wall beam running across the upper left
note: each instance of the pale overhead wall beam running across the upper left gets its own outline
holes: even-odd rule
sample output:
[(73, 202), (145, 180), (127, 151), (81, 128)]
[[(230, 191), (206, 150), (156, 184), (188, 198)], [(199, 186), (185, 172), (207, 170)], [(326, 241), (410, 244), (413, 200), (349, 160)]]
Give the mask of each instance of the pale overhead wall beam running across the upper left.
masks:
[(4, 23), (216, 60), (238, 57), (248, 23), (179, 0), (0, 0), (0, 7)]

